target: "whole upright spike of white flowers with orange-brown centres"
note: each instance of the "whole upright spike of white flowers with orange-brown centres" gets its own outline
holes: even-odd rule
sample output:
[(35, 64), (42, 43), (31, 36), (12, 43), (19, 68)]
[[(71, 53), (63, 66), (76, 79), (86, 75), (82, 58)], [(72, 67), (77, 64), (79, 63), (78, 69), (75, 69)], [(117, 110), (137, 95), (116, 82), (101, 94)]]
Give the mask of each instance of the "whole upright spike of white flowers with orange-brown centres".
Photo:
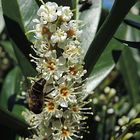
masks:
[[(37, 135), (27, 139), (82, 138), (80, 132), (87, 128), (84, 121), (92, 112), (91, 108), (85, 107), (90, 101), (83, 99), (88, 93), (82, 80), (86, 70), (80, 46), (81, 22), (72, 20), (70, 7), (58, 6), (54, 2), (42, 3), (37, 15), (39, 18), (33, 20), (35, 41), (32, 46), (36, 56), (30, 56), (39, 76), (33, 84), (39, 79), (45, 84), (42, 91), (39, 91), (41, 88), (32, 89), (43, 96), (42, 112), (34, 114), (32, 109), (23, 112), (31, 128), (37, 129)], [(40, 99), (35, 95), (30, 100), (33, 97)], [(34, 108), (39, 107), (40, 104), (36, 103), (39, 99), (31, 101)]]

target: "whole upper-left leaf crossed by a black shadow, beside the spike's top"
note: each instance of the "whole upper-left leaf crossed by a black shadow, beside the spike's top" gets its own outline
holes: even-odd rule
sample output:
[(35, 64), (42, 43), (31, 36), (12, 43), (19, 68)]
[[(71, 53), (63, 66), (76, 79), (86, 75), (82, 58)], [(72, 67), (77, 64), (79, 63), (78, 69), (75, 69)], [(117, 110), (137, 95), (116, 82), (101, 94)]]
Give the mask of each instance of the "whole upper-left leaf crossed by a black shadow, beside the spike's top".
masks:
[(25, 76), (34, 76), (36, 71), (29, 62), (32, 53), (31, 43), (25, 32), (32, 28), (38, 5), (34, 0), (2, 0), (6, 28), (11, 38), (15, 56)]

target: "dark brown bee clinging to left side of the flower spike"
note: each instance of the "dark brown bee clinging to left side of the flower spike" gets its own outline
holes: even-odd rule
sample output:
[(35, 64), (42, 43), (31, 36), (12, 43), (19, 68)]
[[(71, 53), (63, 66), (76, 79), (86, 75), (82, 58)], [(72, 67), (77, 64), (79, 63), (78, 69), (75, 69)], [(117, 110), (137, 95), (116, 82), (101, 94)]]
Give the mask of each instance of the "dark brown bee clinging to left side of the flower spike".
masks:
[(29, 109), (34, 112), (35, 114), (39, 114), (43, 110), (44, 106), (44, 85), (46, 80), (44, 78), (39, 79), (38, 81), (34, 82), (29, 90), (29, 100), (28, 106)]

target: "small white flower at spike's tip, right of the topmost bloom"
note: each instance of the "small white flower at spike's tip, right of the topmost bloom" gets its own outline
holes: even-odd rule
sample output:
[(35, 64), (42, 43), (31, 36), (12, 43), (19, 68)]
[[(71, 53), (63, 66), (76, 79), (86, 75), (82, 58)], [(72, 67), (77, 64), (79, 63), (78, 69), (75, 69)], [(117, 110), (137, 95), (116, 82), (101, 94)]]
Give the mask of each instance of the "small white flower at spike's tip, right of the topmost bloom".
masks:
[(60, 16), (63, 21), (69, 21), (73, 16), (73, 13), (70, 10), (70, 7), (60, 6), (57, 8), (57, 15)]

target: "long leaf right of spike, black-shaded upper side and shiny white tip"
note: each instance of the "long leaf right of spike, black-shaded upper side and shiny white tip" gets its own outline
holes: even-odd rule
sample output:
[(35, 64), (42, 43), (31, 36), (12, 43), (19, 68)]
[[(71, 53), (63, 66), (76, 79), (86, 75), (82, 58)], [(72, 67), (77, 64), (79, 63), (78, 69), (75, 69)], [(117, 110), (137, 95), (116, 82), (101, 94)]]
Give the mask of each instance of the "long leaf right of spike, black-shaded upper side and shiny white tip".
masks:
[[(116, 0), (110, 14), (88, 49), (85, 56), (85, 68), (88, 70), (86, 76), (89, 76), (89, 81), (87, 82), (87, 89), (89, 91), (94, 90), (95, 87), (97, 87), (97, 85), (114, 68), (115, 63), (112, 60), (112, 51), (116, 49), (123, 49), (123, 45), (117, 43), (117, 41), (114, 39), (111, 39), (121, 24), (123, 18), (129, 12), (129, 9), (135, 4), (135, 2), (136, 0), (133, 2), (131, 1), (130, 3), (128, 3), (126, 0)], [(123, 9), (123, 13), (119, 14), (121, 8)], [(117, 36), (121, 37), (124, 35), (125, 30), (126, 28), (124, 28), (124, 25), (122, 24)]]

